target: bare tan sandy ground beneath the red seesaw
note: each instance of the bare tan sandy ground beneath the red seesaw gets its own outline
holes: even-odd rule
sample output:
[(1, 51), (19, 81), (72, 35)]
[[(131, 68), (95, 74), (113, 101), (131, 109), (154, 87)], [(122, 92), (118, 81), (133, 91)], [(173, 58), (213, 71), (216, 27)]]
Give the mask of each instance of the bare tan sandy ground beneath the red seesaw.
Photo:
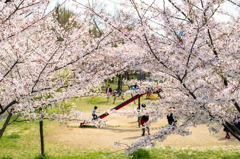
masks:
[[(115, 141), (131, 144), (131, 142), (141, 138), (141, 129), (137, 126), (137, 119), (110, 115), (106, 120), (109, 121), (110, 127), (102, 129), (94, 127), (71, 128), (71, 126), (78, 125), (74, 122), (68, 124), (70, 127), (53, 125), (51, 129), (54, 132), (46, 134), (46, 141), (74, 146), (80, 150), (99, 151), (120, 149), (114, 146)], [(157, 132), (161, 126), (166, 124), (167, 120), (160, 120), (151, 126), (150, 132)], [(224, 131), (215, 135), (210, 134), (206, 125), (200, 125), (190, 130), (192, 131), (190, 136), (170, 135), (158, 145), (177, 147), (239, 146), (236, 139), (225, 139)], [(124, 146), (121, 149), (124, 149)]]

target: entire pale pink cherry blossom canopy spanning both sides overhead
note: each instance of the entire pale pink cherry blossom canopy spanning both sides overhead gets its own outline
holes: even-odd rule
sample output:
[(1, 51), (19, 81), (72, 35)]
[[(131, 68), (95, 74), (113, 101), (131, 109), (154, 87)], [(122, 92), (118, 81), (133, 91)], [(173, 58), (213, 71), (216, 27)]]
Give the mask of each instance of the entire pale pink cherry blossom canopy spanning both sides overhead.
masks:
[[(149, 114), (150, 125), (176, 106), (178, 124), (132, 143), (126, 153), (154, 146), (172, 133), (190, 135), (188, 128), (201, 123), (214, 133), (224, 126), (240, 140), (232, 123), (240, 112), (239, 17), (221, 10), (227, 2), (240, 6), (232, 0), (163, 0), (161, 6), (155, 1), (126, 0), (118, 17), (112, 18), (76, 1), (76, 7), (85, 9), (64, 26), (53, 11), (47, 12), (47, 1), (0, 2), (0, 115), (8, 111), (9, 119), (20, 114), (32, 120), (80, 121), (80, 112), (38, 115), (35, 110), (75, 96), (93, 96), (92, 90), (100, 88), (104, 79), (146, 68), (155, 80), (166, 82), (138, 82), (135, 93), (163, 88), (164, 100), (149, 102), (151, 108), (140, 114), (117, 113)], [(220, 22), (217, 14), (230, 18)], [(99, 37), (89, 32), (93, 17), (107, 25)], [(115, 43), (118, 47), (112, 47)]]

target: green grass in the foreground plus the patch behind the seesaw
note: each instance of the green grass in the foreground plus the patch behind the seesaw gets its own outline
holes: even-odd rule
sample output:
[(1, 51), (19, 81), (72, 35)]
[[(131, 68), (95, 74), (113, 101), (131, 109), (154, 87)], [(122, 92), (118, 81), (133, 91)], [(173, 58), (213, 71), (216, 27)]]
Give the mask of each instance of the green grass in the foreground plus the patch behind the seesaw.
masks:
[[(126, 96), (126, 99), (131, 96)], [(74, 98), (69, 100), (70, 103), (75, 103), (76, 110), (81, 110), (85, 112), (91, 112), (95, 105), (99, 106), (101, 110), (107, 110), (112, 108), (122, 102), (120, 98), (117, 99), (115, 104), (106, 104), (106, 98), (104, 98), (104, 103), (101, 103), (101, 99), (96, 99), (94, 103), (91, 103), (90, 97), (85, 98)], [(144, 102), (144, 98), (141, 98), (141, 102)], [(136, 105), (135, 105), (136, 106)], [(48, 109), (50, 113), (60, 112), (58, 107)], [(90, 113), (89, 113), (90, 114)], [(122, 120), (122, 119), (120, 119)], [(3, 125), (4, 121), (0, 121), (0, 127)], [(57, 128), (58, 129), (54, 129)], [(60, 127), (60, 128), (59, 128)], [(119, 150), (105, 148), (91, 151), (85, 151), (76, 144), (72, 143), (70, 140), (68, 142), (57, 142), (50, 140), (52, 136), (57, 134), (68, 134), (66, 129), (61, 129), (67, 127), (65, 124), (60, 124), (58, 122), (49, 122), (44, 120), (44, 136), (45, 136), (45, 152), (48, 159), (102, 159), (102, 158), (144, 158), (144, 159), (187, 159), (187, 158), (205, 158), (205, 159), (238, 159), (240, 158), (240, 147), (233, 146), (218, 146), (215, 148), (199, 147), (199, 148), (186, 148), (186, 147), (173, 147), (173, 146), (158, 146), (156, 148), (145, 148), (139, 150), (132, 154), (131, 157), (126, 157), (124, 154), (124, 147)], [(74, 126), (69, 126), (70, 130), (80, 130), (74, 128)], [(77, 126), (75, 126), (77, 127)], [(123, 131), (127, 131), (124, 127), (120, 127)], [(131, 128), (131, 127), (130, 127)], [(87, 128), (89, 130), (93, 129), (91, 127)], [(72, 131), (74, 131), (72, 130)], [(86, 129), (85, 129), (86, 130)], [(93, 129), (95, 130), (95, 129)], [(110, 129), (109, 129), (110, 130)], [(116, 131), (111, 131), (111, 133), (120, 132), (120, 129), (112, 129)], [(83, 131), (83, 130), (82, 130)], [(96, 131), (96, 130), (95, 130)], [(103, 131), (107, 131), (103, 130)], [(77, 131), (78, 135), (79, 131)], [(64, 136), (64, 135), (62, 135)], [(85, 138), (86, 136), (82, 136)], [(74, 136), (73, 136), (74, 138)], [(59, 139), (61, 140), (61, 139)], [(77, 138), (75, 139), (77, 140)], [(135, 139), (136, 140), (136, 139)], [(82, 141), (79, 141), (82, 142)], [(187, 146), (187, 145), (186, 145)], [(39, 137), (39, 124), (38, 122), (17, 122), (13, 123), (7, 127), (3, 137), (0, 139), (0, 159), (40, 159), (40, 137)]]

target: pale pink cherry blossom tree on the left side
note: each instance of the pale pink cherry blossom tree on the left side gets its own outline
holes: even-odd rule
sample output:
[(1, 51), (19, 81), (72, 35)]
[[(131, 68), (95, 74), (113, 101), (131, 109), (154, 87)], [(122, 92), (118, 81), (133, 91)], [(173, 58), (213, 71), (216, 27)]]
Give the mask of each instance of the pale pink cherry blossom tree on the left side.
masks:
[[(91, 12), (81, 11), (67, 25), (59, 25), (54, 10), (47, 11), (49, 1), (15, 0), (0, 5), (0, 115), (9, 114), (1, 136), (12, 115), (41, 121), (43, 115), (35, 110), (91, 95), (106, 76), (112, 76), (105, 71), (108, 60), (94, 58), (100, 56), (97, 51), (111, 45), (114, 31), (106, 29), (101, 37), (93, 38)], [(79, 120), (81, 113), (72, 113), (78, 119), (46, 113), (44, 118)]]

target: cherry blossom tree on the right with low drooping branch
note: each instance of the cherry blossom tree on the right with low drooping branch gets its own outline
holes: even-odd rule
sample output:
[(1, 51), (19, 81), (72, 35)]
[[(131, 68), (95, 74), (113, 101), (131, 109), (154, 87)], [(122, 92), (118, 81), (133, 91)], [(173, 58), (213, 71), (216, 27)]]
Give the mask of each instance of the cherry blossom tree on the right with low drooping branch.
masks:
[[(238, 14), (224, 11), (226, 3), (237, 7)], [(138, 62), (155, 74), (155, 80), (166, 79), (158, 85), (141, 83), (136, 92), (143, 93), (147, 88), (156, 91), (159, 87), (165, 90), (164, 100), (148, 103), (151, 109), (144, 112), (152, 118), (148, 124), (169, 114), (169, 107), (177, 107), (173, 113), (179, 119), (177, 126), (167, 126), (132, 143), (127, 153), (154, 146), (172, 133), (189, 135), (190, 126), (202, 123), (207, 123), (213, 133), (225, 127), (240, 141), (240, 131), (232, 122), (240, 113), (239, 1), (163, 0), (159, 4), (155, 0), (126, 0), (118, 19), (84, 7), (118, 31), (125, 44), (142, 50)], [(219, 15), (228, 20), (220, 21)], [(134, 28), (126, 29), (132, 22)], [(137, 70), (140, 66), (132, 63), (131, 68)], [(135, 110), (118, 113), (137, 116)]]

